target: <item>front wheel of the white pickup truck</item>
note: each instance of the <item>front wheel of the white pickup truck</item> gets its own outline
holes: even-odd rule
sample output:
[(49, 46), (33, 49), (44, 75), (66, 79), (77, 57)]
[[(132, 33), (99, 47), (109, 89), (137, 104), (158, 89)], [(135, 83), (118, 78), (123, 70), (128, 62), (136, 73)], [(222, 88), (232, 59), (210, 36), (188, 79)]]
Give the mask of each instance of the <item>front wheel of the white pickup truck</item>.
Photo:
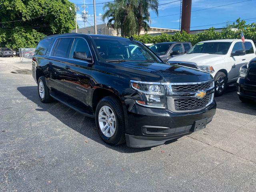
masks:
[(222, 96), (224, 91), (226, 90), (227, 87), (227, 77), (226, 74), (223, 72), (217, 72), (214, 81), (215, 81), (215, 96)]

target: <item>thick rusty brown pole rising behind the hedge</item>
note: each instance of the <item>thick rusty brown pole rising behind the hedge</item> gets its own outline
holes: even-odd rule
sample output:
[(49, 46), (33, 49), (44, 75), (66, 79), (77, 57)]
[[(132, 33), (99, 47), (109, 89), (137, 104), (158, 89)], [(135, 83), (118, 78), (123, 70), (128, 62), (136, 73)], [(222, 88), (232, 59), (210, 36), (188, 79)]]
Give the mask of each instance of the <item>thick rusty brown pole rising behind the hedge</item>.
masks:
[(190, 33), (191, 6), (192, 6), (192, 0), (182, 0), (180, 32), (184, 30), (187, 33)]

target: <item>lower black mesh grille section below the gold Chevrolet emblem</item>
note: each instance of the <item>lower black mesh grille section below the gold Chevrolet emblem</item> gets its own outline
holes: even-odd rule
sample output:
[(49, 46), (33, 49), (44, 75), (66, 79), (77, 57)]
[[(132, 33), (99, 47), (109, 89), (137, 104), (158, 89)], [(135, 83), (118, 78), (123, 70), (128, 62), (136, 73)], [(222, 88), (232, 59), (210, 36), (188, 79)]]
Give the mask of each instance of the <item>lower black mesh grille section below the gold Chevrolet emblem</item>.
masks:
[(186, 98), (186, 99), (174, 99), (175, 110), (197, 110), (201, 109), (211, 100), (212, 95), (204, 96), (202, 99), (198, 98)]

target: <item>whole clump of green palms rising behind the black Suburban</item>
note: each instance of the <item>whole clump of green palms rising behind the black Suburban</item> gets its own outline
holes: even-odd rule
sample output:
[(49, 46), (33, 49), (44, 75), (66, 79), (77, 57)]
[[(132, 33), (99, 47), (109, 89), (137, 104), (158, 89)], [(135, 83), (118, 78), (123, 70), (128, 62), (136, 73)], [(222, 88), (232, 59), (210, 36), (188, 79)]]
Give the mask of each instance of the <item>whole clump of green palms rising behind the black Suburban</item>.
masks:
[(149, 10), (158, 15), (158, 0), (116, 0), (103, 6), (102, 20), (117, 30), (121, 36), (140, 34), (141, 29), (148, 31), (150, 26)]

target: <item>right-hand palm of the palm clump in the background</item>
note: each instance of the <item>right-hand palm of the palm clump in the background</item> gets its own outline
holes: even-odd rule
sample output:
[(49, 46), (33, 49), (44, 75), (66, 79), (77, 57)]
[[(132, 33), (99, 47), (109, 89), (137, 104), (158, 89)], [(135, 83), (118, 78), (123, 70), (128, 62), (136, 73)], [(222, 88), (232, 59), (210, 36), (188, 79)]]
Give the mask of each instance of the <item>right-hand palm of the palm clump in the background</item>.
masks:
[(147, 32), (150, 29), (148, 22), (150, 22), (149, 10), (152, 10), (158, 16), (158, 0), (138, 0), (138, 6), (135, 10), (137, 20), (137, 34), (140, 34), (141, 29)]

